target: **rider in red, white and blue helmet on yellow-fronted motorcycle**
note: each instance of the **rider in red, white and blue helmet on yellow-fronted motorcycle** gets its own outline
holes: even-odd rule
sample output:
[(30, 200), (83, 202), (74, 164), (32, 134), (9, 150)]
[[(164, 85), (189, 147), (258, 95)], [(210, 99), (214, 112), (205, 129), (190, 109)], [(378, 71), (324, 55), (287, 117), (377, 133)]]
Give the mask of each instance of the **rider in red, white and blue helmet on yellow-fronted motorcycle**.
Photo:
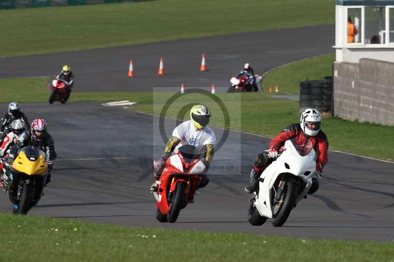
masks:
[[(30, 127), (30, 136), (25, 140), (19, 140), (9, 150), (8, 159), (15, 158), (19, 148), (25, 146), (38, 147), (45, 153), (46, 162), (48, 165), (48, 175), (45, 181), (45, 185), (51, 181), (51, 171), (53, 169), (54, 161), (57, 157), (55, 151), (55, 142), (52, 136), (47, 132), (47, 123), (44, 119), (34, 119)], [(8, 162), (11, 162), (8, 160)]]

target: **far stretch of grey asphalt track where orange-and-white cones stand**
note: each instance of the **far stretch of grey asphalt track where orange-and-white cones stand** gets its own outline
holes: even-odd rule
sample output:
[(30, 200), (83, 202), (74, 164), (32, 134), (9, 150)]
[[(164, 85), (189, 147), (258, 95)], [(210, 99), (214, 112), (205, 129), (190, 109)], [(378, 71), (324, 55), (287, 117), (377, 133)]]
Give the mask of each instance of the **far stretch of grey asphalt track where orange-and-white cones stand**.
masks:
[[(334, 36), (335, 28), (329, 25), (0, 58), (0, 78), (52, 76), (67, 63), (75, 75), (75, 92), (177, 92), (182, 83), (186, 91), (188, 87), (210, 90), (215, 84), (216, 91), (226, 92), (230, 78), (244, 63), (262, 74), (288, 62), (334, 52)], [(208, 67), (205, 72), (199, 71), (202, 53)], [(161, 76), (160, 57), (166, 73)], [(127, 77), (130, 59), (134, 78)]]

